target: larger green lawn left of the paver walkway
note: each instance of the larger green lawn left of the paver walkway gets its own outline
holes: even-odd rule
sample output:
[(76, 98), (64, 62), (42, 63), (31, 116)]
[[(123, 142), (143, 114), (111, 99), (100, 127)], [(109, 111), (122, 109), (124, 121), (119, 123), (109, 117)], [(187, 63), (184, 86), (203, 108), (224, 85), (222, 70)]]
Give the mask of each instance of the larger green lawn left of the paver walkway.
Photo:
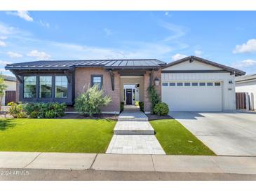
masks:
[(116, 121), (0, 119), (0, 151), (104, 153)]

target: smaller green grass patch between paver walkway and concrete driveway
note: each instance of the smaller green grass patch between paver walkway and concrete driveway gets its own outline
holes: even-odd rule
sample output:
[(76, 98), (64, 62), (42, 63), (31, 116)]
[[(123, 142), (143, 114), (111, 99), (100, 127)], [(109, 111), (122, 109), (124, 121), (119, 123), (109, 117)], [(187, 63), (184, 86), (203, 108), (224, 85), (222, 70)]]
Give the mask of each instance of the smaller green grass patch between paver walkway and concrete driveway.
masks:
[(214, 156), (208, 146), (204, 145), (183, 125), (175, 119), (150, 121), (156, 131), (156, 138), (169, 155), (205, 155)]

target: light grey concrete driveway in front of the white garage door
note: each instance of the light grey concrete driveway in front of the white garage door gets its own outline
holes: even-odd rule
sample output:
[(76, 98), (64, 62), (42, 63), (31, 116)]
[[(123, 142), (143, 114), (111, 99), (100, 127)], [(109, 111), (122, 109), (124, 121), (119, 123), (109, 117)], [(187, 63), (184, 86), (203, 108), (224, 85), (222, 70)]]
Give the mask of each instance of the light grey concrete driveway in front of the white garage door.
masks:
[(220, 156), (256, 156), (256, 113), (170, 112)]

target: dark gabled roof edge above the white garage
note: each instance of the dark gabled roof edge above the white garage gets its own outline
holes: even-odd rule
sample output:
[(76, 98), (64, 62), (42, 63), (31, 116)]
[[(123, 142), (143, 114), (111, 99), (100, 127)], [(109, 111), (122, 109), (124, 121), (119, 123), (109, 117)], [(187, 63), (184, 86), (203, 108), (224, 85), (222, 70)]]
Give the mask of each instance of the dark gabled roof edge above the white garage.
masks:
[(177, 60), (175, 62), (170, 62), (169, 64), (167, 64), (165, 66), (166, 67), (170, 67), (170, 66), (173, 66), (175, 64), (180, 64), (181, 62), (186, 62), (188, 60), (196, 60), (198, 62), (203, 62), (205, 64), (210, 64), (214, 67), (219, 67), (220, 69), (224, 69), (225, 71), (229, 71), (229, 72), (233, 72), (236, 74), (236, 76), (242, 76), (242, 75), (245, 75), (245, 71), (241, 71), (239, 69), (235, 69), (235, 68), (232, 68), (232, 67), (227, 67), (226, 65), (224, 64), (220, 64), (220, 63), (217, 63), (217, 62), (212, 62), (212, 61), (209, 61), (209, 60), (206, 60), (206, 59), (203, 59), (201, 57), (196, 57), (196, 56), (189, 56), (189, 57), (184, 57), (183, 59), (181, 60)]

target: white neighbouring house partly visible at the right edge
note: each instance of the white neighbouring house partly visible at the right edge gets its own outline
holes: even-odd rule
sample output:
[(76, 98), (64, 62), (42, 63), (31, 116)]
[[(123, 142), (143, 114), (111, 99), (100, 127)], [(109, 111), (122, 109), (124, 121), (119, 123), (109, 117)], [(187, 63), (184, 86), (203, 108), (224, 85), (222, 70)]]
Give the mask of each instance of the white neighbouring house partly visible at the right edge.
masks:
[(256, 74), (236, 77), (236, 92), (248, 93), (252, 109), (256, 110)]

